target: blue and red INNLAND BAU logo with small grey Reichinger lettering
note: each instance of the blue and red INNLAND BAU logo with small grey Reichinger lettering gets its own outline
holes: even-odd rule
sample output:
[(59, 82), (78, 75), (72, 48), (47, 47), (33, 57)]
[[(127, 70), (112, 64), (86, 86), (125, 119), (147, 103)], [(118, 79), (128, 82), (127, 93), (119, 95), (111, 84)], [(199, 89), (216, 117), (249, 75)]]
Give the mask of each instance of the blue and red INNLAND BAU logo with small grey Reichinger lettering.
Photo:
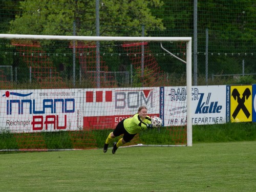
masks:
[[(74, 98), (58, 98), (58, 99), (42, 99), (40, 102), (35, 99), (27, 99), (25, 97), (31, 95), (21, 94), (15, 92), (7, 91), (3, 97), (9, 98), (10, 95), (14, 95), (20, 99), (7, 99), (6, 100), (6, 114), (9, 116), (20, 115), (20, 114), (56, 114), (56, 113), (75, 113), (75, 99)], [(39, 106), (38, 106), (39, 105)], [(41, 110), (38, 110), (41, 109)], [(19, 125), (29, 125), (31, 122), (33, 130), (48, 130), (48, 126), (53, 126), (53, 129), (63, 130), (67, 128), (67, 115), (64, 117), (59, 117), (59, 115), (34, 115), (32, 122), (30, 120), (6, 120), (7, 126), (19, 126)], [(59, 119), (64, 120), (64, 122), (59, 123)], [(63, 124), (60, 126), (59, 124)]]

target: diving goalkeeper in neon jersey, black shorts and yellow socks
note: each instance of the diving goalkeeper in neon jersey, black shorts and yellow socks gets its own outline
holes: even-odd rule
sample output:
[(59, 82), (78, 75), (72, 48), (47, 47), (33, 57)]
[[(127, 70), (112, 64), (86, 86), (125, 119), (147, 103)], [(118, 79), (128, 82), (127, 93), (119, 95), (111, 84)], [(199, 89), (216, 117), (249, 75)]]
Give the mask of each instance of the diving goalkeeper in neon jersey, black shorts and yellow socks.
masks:
[(116, 143), (113, 143), (112, 153), (115, 154), (116, 150), (119, 146), (124, 145), (127, 142), (130, 142), (134, 136), (146, 130), (147, 128), (152, 128), (151, 118), (147, 116), (147, 109), (145, 106), (140, 106), (138, 109), (138, 113), (135, 114), (131, 118), (121, 120), (117, 125), (116, 129), (111, 132), (106, 138), (103, 152), (106, 153), (108, 151), (109, 143), (115, 138), (123, 134), (123, 138), (119, 139)]

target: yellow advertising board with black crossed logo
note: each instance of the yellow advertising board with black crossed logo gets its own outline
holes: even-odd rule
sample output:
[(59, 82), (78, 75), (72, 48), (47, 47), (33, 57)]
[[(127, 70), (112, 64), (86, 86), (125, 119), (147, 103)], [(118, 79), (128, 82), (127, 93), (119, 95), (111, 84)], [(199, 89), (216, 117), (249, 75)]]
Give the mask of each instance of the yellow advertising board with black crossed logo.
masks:
[(252, 121), (252, 86), (230, 86), (231, 122)]

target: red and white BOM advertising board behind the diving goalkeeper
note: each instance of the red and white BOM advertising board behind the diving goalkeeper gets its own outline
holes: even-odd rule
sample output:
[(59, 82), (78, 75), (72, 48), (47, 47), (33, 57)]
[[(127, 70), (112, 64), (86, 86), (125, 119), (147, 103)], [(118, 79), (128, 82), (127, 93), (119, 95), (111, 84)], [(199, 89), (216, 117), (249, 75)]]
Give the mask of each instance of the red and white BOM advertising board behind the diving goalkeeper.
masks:
[(84, 90), (84, 129), (113, 129), (122, 119), (133, 116), (139, 106), (151, 117), (159, 117), (159, 87)]

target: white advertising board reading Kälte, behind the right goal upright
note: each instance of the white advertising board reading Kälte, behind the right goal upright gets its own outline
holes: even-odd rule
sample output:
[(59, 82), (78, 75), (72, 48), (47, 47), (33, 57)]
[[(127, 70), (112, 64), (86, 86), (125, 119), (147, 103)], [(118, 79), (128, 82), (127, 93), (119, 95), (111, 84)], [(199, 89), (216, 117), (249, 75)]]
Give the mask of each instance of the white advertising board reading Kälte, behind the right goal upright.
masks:
[[(186, 87), (164, 87), (164, 126), (186, 123)], [(168, 104), (167, 104), (168, 103)], [(192, 123), (226, 122), (226, 86), (192, 87)]]

